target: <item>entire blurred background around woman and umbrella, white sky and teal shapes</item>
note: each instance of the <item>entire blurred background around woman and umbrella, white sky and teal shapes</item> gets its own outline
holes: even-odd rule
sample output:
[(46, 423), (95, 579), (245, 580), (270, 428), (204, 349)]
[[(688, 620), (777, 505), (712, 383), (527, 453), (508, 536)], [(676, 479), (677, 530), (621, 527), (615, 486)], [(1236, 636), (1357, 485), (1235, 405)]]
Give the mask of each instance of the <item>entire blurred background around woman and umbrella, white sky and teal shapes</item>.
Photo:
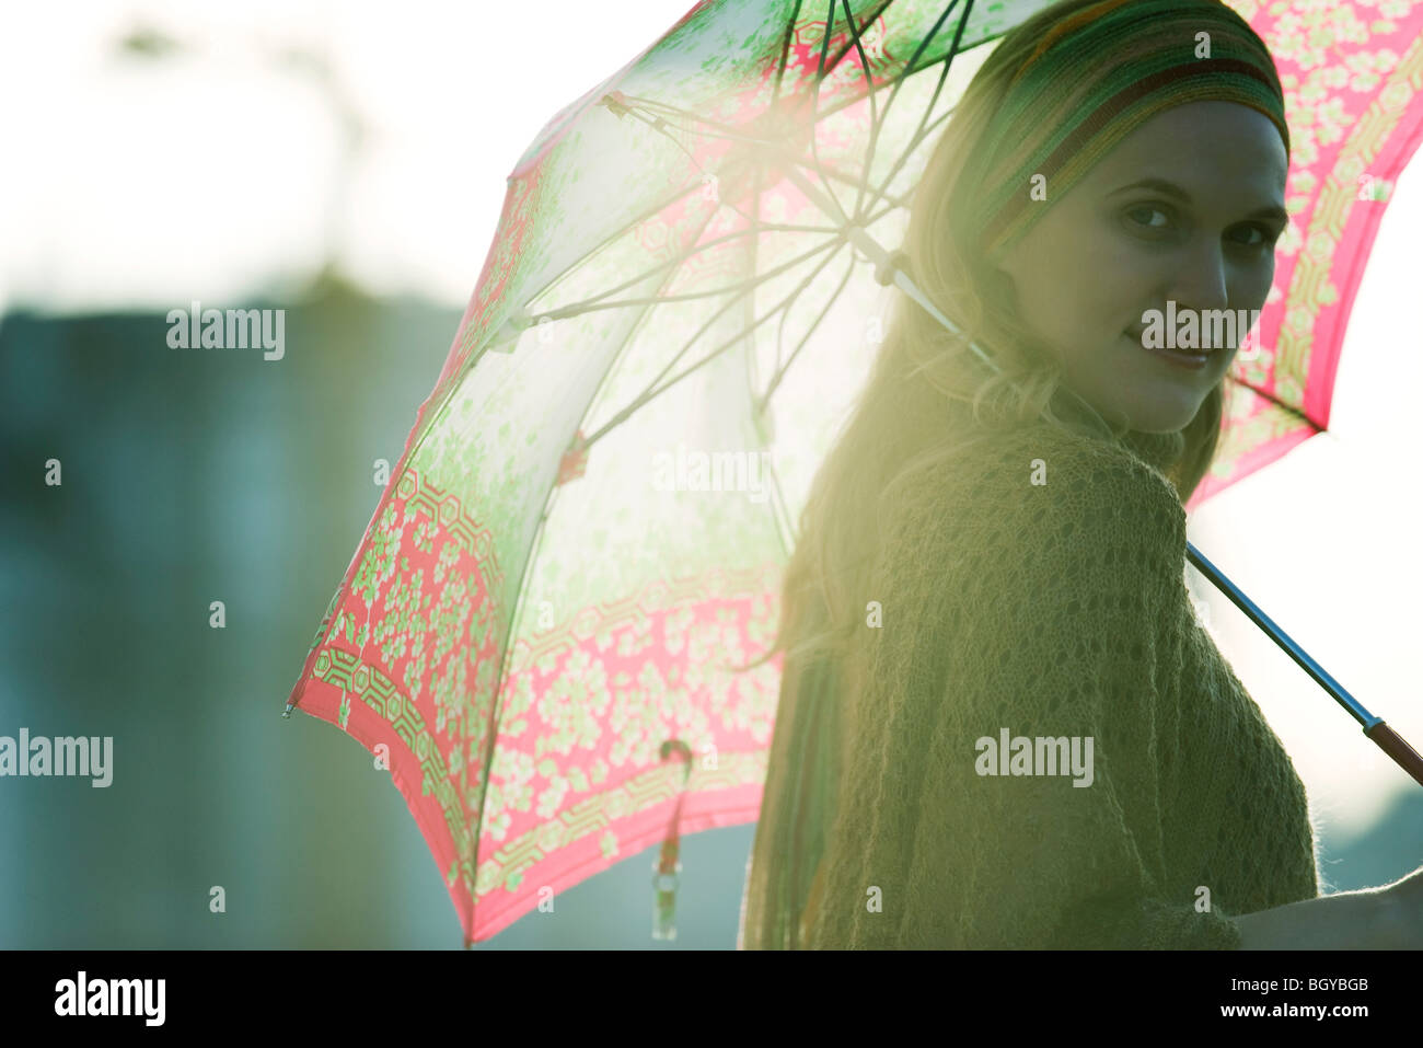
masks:
[[(690, 6), (0, 16), (0, 735), (114, 738), (107, 789), (0, 779), (0, 947), (460, 947), (388, 776), (280, 712), (379, 503), (373, 463), (400, 459), (434, 387), (505, 175)], [(1414, 746), (1420, 234), (1414, 164), (1365, 275), (1332, 431), (1190, 524)], [(285, 355), (171, 347), (166, 315), (194, 302), (285, 309)], [(51, 459), (63, 486), (44, 483)], [(1417, 785), (1191, 585), (1305, 780), (1326, 890), (1423, 863)], [(650, 937), (653, 847), (475, 948), (731, 948), (753, 834), (683, 839), (672, 943)]]

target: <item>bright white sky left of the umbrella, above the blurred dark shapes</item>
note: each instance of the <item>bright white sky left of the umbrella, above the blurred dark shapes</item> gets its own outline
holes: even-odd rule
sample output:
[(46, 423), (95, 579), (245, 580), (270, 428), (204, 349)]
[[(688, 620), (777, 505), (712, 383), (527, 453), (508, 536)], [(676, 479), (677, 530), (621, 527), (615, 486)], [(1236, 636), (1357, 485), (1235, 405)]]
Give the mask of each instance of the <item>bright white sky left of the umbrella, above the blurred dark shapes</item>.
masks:
[[(525, 147), (690, 6), (6, 4), (0, 306), (280, 295), (334, 252), (462, 309)], [(178, 48), (120, 53), (138, 28)]]

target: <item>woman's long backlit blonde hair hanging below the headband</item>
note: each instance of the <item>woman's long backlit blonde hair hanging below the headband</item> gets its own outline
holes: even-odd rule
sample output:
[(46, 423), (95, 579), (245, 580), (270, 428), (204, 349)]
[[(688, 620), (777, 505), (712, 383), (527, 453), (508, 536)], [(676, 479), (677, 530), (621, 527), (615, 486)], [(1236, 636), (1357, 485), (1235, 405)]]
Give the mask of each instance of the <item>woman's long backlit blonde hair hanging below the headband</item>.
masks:
[[(915, 189), (904, 251), (914, 282), (962, 332), (951, 333), (919, 303), (895, 295), (869, 380), (801, 513), (776, 639), (743, 669), (781, 651), (794, 659), (848, 654), (862, 627), (882, 521), (912, 503), (916, 486), (932, 486), (936, 474), (992, 430), (1039, 417), (1073, 424), (1054, 412), (1054, 402), (1063, 403), (1060, 392), (1074, 396), (1063, 384), (1062, 363), (1019, 322), (1000, 276), (970, 246), (963, 216), (982, 195), (965, 167), (989, 145), (985, 130), (1043, 34), (1096, 1), (1053, 4), (1006, 34), (948, 121)], [(992, 355), (1000, 373), (972, 353), (969, 340)], [(1185, 451), (1170, 473), (1183, 504), (1215, 454), (1224, 384), (1217, 383), (1183, 430)], [(976, 427), (953, 424), (953, 403), (972, 409)], [(1120, 424), (1109, 429), (1114, 436), (1126, 431)], [(783, 679), (783, 688), (787, 683)]]

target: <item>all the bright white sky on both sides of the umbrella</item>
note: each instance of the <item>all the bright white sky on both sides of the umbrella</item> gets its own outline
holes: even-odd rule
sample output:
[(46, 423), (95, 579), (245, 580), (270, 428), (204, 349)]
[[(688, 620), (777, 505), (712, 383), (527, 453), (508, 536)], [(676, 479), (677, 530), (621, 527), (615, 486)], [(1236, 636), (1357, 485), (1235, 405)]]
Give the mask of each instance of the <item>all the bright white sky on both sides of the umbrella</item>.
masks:
[[(280, 298), (330, 256), (374, 293), (464, 308), (505, 175), (525, 147), (690, 6), (7, 4), (0, 309)], [(176, 50), (161, 60), (121, 54), (117, 41), (138, 28)], [(329, 78), (314, 73), (322, 63)], [(1414, 164), (1396, 187), (1353, 312), (1335, 433), (1191, 521), (1201, 551), (1416, 748), (1420, 232)], [(1417, 789), (1284, 652), (1201, 587), (1212, 594), (1222, 651), (1318, 809), (1369, 820), (1392, 795)]]

